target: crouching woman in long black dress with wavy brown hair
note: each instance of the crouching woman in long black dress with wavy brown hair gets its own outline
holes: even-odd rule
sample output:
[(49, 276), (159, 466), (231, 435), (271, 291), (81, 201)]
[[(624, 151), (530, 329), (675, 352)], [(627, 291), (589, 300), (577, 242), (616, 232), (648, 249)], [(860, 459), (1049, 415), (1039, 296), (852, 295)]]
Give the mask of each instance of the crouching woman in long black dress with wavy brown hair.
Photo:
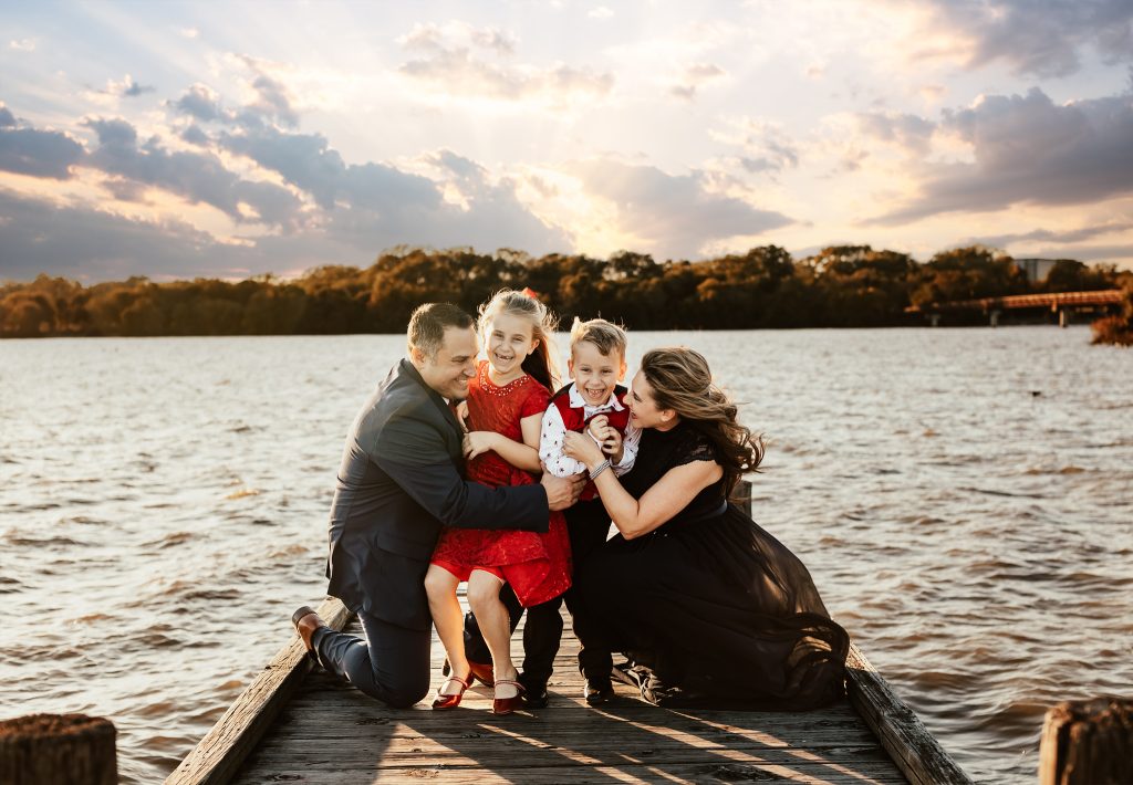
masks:
[[(568, 434), (566, 453), (589, 467), (620, 532), (576, 577), (586, 650), (624, 652), (623, 673), (663, 706), (804, 710), (844, 694), (845, 630), (802, 562), (727, 502), (763, 443), (736, 421), (708, 362), (655, 349), (627, 401), (641, 441), (621, 479), (593, 438)], [(611, 673), (611, 657), (587, 658), (588, 702), (613, 694)]]

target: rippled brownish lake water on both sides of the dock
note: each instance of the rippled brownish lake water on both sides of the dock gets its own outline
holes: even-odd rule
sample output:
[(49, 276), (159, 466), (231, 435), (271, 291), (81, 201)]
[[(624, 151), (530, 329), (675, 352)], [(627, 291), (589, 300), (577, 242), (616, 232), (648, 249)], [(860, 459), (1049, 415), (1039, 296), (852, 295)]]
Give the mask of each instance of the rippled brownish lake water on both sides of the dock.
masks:
[[(1133, 351), (1085, 328), (633, 333), (769, 440), (755, 517), (974, 778), (1133, 685)], [(325, 590), (346, 430), (395, 335), (0, 342), (0, 718), (113, 719), (162, 778)]]

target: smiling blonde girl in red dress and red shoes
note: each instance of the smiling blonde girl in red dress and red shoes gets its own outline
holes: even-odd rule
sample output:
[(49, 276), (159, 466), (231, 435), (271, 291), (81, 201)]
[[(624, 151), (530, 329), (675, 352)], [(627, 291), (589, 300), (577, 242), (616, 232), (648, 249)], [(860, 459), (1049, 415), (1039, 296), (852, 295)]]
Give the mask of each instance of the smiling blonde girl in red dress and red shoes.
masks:
[[(469, 433), (465, 437), (468, 478), (492, 487), (531, 485), (539, 467), (543, 412), (557, 385), (550, 343), (554, 316), (525, 292), (503, 290), (480, 307), (479, 331), (488, 359), (468, 384)], [(437, 688), (434, 709), (452, 709), (471, 680), (465, 655), (465, 620), (457, 586), (468, 581), (468, 604), (492, 652), (495, 696), (492, 710), (511, 714), (522, 686), (511, 662), (511, 624), (500, 601), (510, 583), (525, 607), (545, 603), (570, 587), (570, 540), (562, 513), (552, 512), (546, 534), (445, 529), (425, 589), (451, 675)]]

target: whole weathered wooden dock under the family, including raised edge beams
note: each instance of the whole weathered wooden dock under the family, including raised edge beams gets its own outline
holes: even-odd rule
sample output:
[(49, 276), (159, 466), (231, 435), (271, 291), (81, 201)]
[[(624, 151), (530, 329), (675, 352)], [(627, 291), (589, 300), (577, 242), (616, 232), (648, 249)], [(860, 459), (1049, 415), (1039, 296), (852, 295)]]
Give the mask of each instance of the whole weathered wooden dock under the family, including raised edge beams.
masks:
[[(338, 600), (320, 615), (357, 626)], [(512, 646), (518, 663), (519, 634)], [(970, 783), (857, 647), (849, 700), (796, 714), (658, 708), (622, 684), (590, 708), (577, 652), (566, 616), (551, 705), (495, 717), (483, 685), (453, 711), (389, 709), (321, 668), (306, 675), (292, 637), (165, 782)], [(434, 641), (434, 686), (443, 656)]]

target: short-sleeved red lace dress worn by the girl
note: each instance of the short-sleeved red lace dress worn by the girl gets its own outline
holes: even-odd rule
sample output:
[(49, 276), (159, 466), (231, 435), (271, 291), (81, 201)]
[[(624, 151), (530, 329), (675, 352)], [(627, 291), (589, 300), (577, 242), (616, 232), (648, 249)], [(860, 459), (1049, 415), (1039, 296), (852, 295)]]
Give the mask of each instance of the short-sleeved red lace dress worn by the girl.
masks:
[[(499, 387), (488, 378), (487, 368), (487, 360), (480, 360), (476, 378), (468, 384), (469, 430), (494, 430), (522, 442), (520, 420), (545, 412), (551, 393), (526, 374)], [(468, 479), (493, 488), (536, 481), (495, 451), (468, 462)], [(432, 562), (462, 581), (474, 568), (487, 570), (511, 585), (523, 607), (546, 603), (570, 588), (570, 539), (561, 512), (551, 513), (546, 534), (446, 528)]]

